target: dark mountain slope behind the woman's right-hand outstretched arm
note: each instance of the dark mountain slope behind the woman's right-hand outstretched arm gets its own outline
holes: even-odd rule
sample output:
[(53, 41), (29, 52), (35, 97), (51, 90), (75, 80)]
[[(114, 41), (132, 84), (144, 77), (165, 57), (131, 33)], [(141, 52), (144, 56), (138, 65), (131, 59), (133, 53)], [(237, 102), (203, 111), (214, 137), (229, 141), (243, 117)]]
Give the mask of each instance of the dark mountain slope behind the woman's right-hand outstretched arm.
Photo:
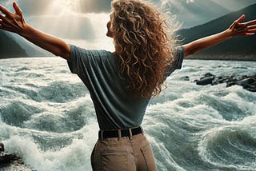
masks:
[[(203, 25), (195, 26), (190, 29), (178, 30), (181, 44), (193, 42), (198, 38), (203, 38), (211, 34), (217, 34), (226, 30), (234, 20), (242, 14), (246, 14), (246, 21), (256, 18), (256, 4), (247, 6), (242, 10), (226, 14), (221, 18), (206, 22)], [(200, 59), (234, 59), (234, 60), (254, 60), (256, 61), (256, 36), (232, 38), (222, 42), (217, 46), (202, 50), (197, 54), (191, 55), (190, 58)]]

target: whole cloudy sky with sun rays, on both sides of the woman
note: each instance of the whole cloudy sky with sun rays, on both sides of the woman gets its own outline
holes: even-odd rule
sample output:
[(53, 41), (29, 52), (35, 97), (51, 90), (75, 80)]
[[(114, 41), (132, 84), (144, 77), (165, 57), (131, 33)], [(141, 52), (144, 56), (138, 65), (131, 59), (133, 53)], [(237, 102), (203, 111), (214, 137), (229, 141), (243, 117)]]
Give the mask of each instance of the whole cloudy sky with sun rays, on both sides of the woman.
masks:
[[(12, 10), (14, 0), (0, 0)], [(106, 38), (111, 0), (16, 0), (31, 26), (82, 46), (111, 49)], [(151, 0), (159, 10), (171, 11), (182, 28), (198, 26), (256, 0)], [(12, 10), (13, 11), (13, 10)], [(230, 21), (233, 22), (233, 21)]]

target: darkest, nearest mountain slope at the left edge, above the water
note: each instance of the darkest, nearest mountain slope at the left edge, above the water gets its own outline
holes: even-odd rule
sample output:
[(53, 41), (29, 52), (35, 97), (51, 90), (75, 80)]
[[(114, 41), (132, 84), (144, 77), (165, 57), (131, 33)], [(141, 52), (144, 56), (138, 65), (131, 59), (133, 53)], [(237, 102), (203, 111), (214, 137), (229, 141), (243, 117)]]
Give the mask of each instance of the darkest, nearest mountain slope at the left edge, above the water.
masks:
[(8, 33), (0, 30), (0, 59), (26, 57), (26, 50), (11, 38)]

